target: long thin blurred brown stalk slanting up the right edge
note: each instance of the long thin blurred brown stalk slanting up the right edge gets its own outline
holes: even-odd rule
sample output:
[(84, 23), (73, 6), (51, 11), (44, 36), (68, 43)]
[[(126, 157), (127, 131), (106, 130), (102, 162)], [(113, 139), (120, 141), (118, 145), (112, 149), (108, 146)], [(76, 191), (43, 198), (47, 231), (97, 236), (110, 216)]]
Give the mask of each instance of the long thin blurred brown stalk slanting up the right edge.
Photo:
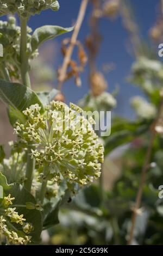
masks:
[(146, 153), (146, 157), (145, 157), (145, 163), (143, 165), (142, 172), (141, 172), (140, 185), (139, 185), (139, 190), (137, 191), (136, 203), (135, 203), (135, 207), (134, 207), (134, 211), (133, 211), (133, 216), (132, 216), (132, 219), (131, 219), (131, 228), (130, 228), (130, 231), (129, 231), (129, 239), (128, 239), (127, 245), (131, 245), (131, 242), (133, 241), (133, 238), (134, 238), (136, 217), (137, 217), (140, 205), (141, 205), (143, 186), (145, 185), (145, 182), (146, 182), (146, 174), (147, 174), (147, 170), (148, 170), (148, 167), (149, 167), (149, 161), (151, 159), (154, 139), (155, 139), (155, 136), (156, 136), (156, 132), (155, 132), (154, 127), (155, 127), (156, 123), (158, 123), (158, 121), (160, 120), (162, 111), (163, 111), (163, 101), (160, 104), (159, 111), (158, 111), (158, 116), (156, 117), (156, 119), (155, 119), (155, 121), (152, 125), (151, 138), (149, 139), (149, 145), (148, 145), (148, 149), (147, 149), (147, 153)]

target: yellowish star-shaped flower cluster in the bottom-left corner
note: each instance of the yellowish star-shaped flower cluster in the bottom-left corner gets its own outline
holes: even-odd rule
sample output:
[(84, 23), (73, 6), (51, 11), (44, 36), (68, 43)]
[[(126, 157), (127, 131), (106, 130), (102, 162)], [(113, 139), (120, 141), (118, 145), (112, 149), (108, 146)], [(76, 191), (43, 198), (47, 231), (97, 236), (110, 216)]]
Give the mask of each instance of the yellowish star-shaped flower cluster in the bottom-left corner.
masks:
[[(12, 208), (12, 201), (14, 197), (11, 197), (9, 194), (7, 197), (4, 197), (2, 201), (2, 206), (4, 208), (3, 215), (0, 215), (0, 232), (7, 236), (8, 241), (13, 245), (27, 245), (30, 242), (31, 236), (29, 234), (33, 230), (33, 225), (26, 223), (26, 219), (23, 215), (18, 215), (16, 208)], [(16, 223), (22, 226), (22, 231), (17, 232), (16, 227), (12, 229), (12, 224)], [(20, 227), (18, 228), (20, 230)], [(21, 236), (18, 235), (21, 233)]]

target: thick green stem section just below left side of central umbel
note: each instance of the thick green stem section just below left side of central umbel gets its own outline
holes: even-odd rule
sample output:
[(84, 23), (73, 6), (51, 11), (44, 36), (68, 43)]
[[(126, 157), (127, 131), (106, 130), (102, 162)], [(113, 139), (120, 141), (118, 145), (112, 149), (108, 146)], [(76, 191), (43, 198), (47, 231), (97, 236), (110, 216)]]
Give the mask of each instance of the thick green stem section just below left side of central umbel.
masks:
[(33, 172), (35, 168), (35, 159), (31, 159), (30, 153), (31, 148), (27, 151), (27, 169), (26, 169), (26, 180), (24, 181), (24, 187), (30, 192), (32, 187)]

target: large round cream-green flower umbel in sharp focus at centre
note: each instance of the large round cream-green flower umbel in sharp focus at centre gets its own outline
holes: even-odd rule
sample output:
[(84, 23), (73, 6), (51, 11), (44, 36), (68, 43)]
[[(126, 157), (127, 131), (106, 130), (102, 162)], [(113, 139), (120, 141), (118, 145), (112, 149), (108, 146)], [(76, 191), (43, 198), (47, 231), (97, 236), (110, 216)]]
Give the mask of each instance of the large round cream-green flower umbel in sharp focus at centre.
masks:
[[(92, 129), (90, 121), (82, 115), (82, 109), (70, 103), (52, 101), (40, 113), (37, 104), (30, 106), (23, 114), (26, 123), (17, 123), (15, 132), (35, 149), (31, 157), (40, 167), (49, 167), (47, 180), (67, 185), (89, 185), (101, 174), (104, 148)], [(27, 146), (28, 147), (28, 146)], [(45, 178), (45, 177), (44, 177)]]

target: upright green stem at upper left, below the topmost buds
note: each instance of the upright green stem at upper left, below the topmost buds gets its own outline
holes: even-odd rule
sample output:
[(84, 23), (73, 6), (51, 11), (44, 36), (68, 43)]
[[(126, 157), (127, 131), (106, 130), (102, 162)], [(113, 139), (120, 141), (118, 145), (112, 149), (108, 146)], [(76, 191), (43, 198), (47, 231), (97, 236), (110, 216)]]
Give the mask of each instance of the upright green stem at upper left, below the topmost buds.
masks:
[(20, 45), (20, 56), (21, 56), (21, 77), (24, 86), (30, 86), (30, 77), (28, 74), (28, 56), (27, 56), (27, 19), (20, 17), (21, 22), (21, 45)]

